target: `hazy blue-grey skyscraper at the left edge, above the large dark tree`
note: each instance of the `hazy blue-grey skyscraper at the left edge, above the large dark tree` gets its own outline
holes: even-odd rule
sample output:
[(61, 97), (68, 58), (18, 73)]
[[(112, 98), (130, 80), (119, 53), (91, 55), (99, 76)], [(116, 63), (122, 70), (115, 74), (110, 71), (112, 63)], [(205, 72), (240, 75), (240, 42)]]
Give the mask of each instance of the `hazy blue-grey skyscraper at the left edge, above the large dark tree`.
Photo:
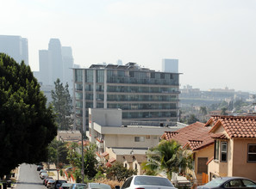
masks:
[(28, 65), (28, 40), (16, 35), (0, 35), (0, 52), (8, 54), (17, 63)]

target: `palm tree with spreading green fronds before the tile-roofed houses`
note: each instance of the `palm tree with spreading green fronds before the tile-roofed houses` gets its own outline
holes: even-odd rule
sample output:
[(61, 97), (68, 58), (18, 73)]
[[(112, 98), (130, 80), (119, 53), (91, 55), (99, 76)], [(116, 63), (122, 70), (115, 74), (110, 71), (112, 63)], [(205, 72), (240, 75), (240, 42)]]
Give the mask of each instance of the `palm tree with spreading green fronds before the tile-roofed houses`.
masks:
[(183, 150), (177, 141), (162, 140), (158, 146), (147, 151), (148, 161), (142, 164), (147, 174), (159, 174), (165, 172), (169, 180), (172, 172), (178, 172), (179, 168), (191, 168), (192, 155)]

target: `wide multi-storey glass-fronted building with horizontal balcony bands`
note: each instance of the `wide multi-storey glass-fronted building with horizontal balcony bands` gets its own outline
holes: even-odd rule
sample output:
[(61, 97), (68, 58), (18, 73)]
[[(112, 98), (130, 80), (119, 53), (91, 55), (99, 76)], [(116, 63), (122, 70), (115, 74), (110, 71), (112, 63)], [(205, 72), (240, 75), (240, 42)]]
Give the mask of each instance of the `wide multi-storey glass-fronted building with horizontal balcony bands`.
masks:
[[(121, 108), (124, 121), (178, 121), (179, 74), (125, 65), (73, 69), (75, 125), (88, 125), (88, 108)], [(85, 126), (84, 126), (85, 127)], [(85, 128), (84, 128), (85, 129)]]

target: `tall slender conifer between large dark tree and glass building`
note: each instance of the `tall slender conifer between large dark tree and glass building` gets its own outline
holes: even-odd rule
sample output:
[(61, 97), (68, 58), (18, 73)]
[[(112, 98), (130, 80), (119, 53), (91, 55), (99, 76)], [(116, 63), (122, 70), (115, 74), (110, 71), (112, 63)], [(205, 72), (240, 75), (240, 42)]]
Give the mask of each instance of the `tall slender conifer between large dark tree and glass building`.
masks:
[(72, 98), (69, 94), (68, 84), (63, 87), (59, 78), (54, 82), (55, 90), (52, 90), (53, 110), (57, 116), (59, 130), (69, 130), (72, 125)]

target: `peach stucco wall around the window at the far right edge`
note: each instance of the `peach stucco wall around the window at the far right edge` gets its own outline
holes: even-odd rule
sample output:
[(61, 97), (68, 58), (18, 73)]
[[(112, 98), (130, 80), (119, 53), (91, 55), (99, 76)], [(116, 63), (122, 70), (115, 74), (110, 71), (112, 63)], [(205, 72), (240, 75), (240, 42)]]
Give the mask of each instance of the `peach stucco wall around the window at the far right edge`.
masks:
[(256, 163), (247, 162), (248, 143), (256, 143), (256, 139), (234, 138), (234, 165), (232, 176), (242, 176), (256, 180)]

